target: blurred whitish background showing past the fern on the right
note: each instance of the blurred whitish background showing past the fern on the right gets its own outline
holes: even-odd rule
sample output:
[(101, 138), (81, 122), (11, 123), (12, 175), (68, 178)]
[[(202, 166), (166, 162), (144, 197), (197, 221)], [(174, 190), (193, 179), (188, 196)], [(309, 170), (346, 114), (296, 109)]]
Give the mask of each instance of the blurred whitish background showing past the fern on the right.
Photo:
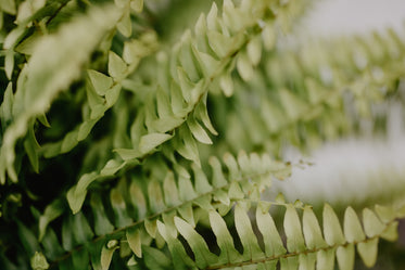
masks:
[[(394, 28), (405, 40), (404, 0), (324, 0), (314, 7), (300, 26), (301, 37), (362, 34)], [(294, 168), (292, 178), (275, 182), (275, 192), (282, 191), (288, 201), (304, 203), (362, 202), (391, 192), (397, 181), (405, 185), (405, 131), (403, 108), (392, 106), (388, 137), (347, 138), (331, 142), (302, 156), (293, 149), (286, 158), (300, 158), (315, 165)], [(315, 196), (314, 196), (315, 195)], [(390, 194), (385, 194), (390, 195)]]

